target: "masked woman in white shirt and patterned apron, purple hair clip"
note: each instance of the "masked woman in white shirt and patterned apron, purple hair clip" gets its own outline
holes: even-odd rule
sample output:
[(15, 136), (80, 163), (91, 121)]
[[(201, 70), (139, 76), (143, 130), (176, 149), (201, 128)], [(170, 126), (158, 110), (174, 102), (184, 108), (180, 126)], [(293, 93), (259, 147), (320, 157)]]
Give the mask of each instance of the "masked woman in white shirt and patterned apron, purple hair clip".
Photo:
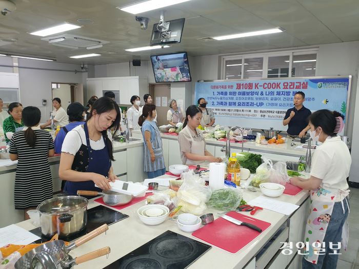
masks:
[(340, 246), (346, 250), (349, 236), (349, 149), (340, 136), (344, 116), (336, 111), (318, 110), (308, 117), (310, 137), (323, 144), (313, 155), (310, 178), (292, 177), (291, 183), (310, 190), (303, 269), (336, 268)]

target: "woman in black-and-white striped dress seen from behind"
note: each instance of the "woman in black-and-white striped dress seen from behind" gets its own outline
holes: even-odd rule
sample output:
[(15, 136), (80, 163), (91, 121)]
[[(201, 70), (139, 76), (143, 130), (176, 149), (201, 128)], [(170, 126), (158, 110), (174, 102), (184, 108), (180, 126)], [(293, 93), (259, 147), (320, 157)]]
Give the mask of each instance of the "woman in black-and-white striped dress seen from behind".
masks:
[[(38, 125), (41, 112), (36, 107), (23, 110), (25, 128), (14, 133), (10, 141), (10, 159), (18, 160), (15, 175), (15, 209), (36, 209), (52, 198), (52, 178), (48, 157), (54, 156), (54, 143), (48, 131)], [(25, 214), (25, 219), (29, 219)]]

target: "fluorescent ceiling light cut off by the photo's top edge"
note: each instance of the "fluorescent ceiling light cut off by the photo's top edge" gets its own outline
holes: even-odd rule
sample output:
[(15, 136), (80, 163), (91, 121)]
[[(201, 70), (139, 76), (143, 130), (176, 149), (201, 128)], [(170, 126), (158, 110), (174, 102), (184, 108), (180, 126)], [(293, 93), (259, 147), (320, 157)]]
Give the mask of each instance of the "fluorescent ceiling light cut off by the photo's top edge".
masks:
[(132, 14), (138, 14), (143, 13), (146, 11), (164, 8), (172, 5), (176, 5), (179, 3), (187, 2), (190, 0), (150, 0), (150, 1), (138, 1), (135, 3), (132, 3), (130, 5), (117, 7), (119, 10), (126, 11)]

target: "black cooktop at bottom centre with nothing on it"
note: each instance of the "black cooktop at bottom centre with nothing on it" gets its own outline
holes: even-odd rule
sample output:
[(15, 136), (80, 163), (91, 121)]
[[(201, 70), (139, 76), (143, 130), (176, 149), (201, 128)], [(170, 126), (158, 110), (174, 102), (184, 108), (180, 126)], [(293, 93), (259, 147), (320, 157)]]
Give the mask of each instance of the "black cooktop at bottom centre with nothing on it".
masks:
[(205, 254), (212, 246), (167, 231), (104, 269), (181, 269)]

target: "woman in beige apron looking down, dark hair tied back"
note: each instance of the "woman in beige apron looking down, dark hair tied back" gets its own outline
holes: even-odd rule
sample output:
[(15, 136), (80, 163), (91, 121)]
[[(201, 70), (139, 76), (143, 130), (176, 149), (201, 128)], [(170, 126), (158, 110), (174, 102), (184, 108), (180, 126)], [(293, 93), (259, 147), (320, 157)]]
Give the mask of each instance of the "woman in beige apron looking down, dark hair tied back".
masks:
[(182, 164), (197, 165), (198, 163), (222, 162), (222, 158), (214, 157), (206, 150), (206, 141), (201, 130), (197, 127), (202, 119), (202, 110), (191, 105), (186, 110), (186, 119), (183, 123), (183, 129), (178, 134), (179, 150), (181, 151)]

